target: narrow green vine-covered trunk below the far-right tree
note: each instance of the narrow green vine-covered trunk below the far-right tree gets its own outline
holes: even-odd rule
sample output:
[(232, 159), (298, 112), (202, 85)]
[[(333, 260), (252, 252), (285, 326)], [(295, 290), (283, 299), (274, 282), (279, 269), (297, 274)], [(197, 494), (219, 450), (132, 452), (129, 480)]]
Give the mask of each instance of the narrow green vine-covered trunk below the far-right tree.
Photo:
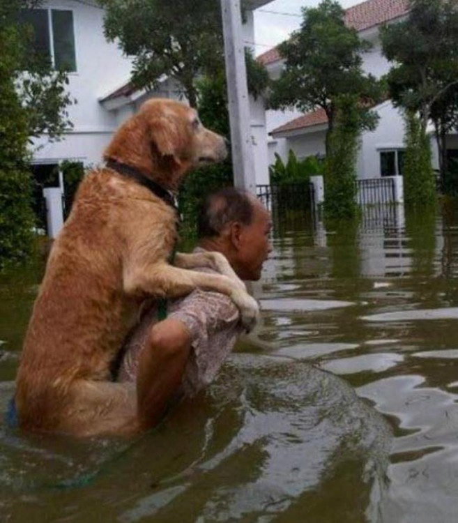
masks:
[(412, 111), (406, 113), (404, 195), (409, 206), (431, 205), (436, 201), (429, 137)]

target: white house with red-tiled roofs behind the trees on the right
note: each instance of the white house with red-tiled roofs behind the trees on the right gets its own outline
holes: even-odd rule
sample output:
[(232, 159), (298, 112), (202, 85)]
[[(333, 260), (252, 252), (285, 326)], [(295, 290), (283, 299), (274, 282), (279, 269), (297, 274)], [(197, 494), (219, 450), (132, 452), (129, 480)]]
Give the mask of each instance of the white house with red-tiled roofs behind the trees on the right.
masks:
[[(379, 29), (381, 24), (405, 20), (408, 13), (407, 0), (367, 0), (345, 11), (345, 22), (354, 27), (360, 38), (372, 43), (372, 49), (365, 53), (363, 68), (367, 73), (381, 77), (387, 73), (390, 63), (381, 53)], [(271, 77), (280, 75), (284, 61), (277, 49), (269, 50), (257, 58), (264, 63)], [(399, 176), (402, 167), (404, 146), (404, 120), (402, 114), (390, 101), (374, 107), (380, 120), (374, 132), (364, 132), (361, 137), (357, 174), (359, 179), (374, 179), (381, 176)], [(268, 133), (269, 162), (274, 161), (277, 152), (286, 158), (292, 149), (298, 158), (323, 155), (324, 137), (328, 119), (322, 109), (308, 114), (267, 111), (266, 131)], [(450, 153), (457, 153), (458, 135), (448, 137)], [(432, 141), (434, 165), (436, 168), (436, 143)]]

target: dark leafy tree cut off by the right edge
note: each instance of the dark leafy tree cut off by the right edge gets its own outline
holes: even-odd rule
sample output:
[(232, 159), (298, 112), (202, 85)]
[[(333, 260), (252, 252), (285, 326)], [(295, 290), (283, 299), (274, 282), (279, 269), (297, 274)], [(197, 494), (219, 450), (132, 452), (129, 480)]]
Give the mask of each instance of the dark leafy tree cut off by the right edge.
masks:
[[(405, 22), (381, 31), (383, 54), (394, 63), (386, 77), (389, 95), (395, 107), (418, 114), (422, 135), (434, 122), (443, 175), (445, 136), (457, 124), (457, 3), (411, 0), (409, 8)], [(421, 141), (426, 146), (425, 137)]]

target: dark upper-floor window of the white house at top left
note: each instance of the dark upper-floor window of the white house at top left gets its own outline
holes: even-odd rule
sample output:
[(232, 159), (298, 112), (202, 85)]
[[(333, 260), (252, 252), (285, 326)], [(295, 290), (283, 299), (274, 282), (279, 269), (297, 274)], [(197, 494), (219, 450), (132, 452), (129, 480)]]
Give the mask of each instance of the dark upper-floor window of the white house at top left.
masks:
[(56, 69), (76, 71), (72, 11), (24, 9), (21, 20), (33, 27), (33, 52), (49, 57)]

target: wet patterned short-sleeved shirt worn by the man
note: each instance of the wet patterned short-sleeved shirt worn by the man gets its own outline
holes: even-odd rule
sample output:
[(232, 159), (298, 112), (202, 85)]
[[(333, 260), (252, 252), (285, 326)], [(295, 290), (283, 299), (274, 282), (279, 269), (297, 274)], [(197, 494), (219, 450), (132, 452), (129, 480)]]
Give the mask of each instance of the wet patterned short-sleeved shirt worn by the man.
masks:
[[(199, 252), (199, 248), (194, 252)], [(209, 268), (196, 270), (215, 273)], [(183, 374), (183, 393), (192, 396), (208, 385), (243, 332), (238, 308), (228, 296), (219, 292), (196, 289), (184, 298), (170, 300), (167, 318), (178, 319), (191, 333), (192, 349)], [(125, 347), (119, 370), (119, 381), (135, 381), (139, 356), (145, 347), (151, 327), (158, 321), (158, 307), (151, 305), (142, 315)]]

